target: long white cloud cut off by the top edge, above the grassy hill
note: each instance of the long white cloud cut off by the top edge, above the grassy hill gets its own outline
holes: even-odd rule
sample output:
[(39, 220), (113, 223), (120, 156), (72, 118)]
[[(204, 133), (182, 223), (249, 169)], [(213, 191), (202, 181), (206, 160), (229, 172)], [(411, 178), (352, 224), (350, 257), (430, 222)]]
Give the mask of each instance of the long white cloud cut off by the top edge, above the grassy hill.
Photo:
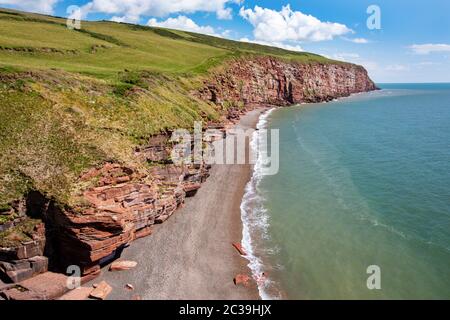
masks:
[[(1, 1), (1, 0), (0, 0)], [(228, 4), (241, 0), (92, 0), (83, 7), (85, 13), (114, 15), (115, 21), (138, 22), (141, 16), (164, 17), (173, 13), (215, 12), (219, 19), (231, 19)]]

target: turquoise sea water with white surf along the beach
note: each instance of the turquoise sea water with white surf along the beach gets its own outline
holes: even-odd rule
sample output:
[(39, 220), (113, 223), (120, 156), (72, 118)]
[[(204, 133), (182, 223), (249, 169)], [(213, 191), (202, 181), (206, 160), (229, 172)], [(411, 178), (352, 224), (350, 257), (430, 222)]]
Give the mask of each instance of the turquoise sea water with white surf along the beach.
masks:
[(450, 84), (380, 86), (260, 123), (280, 171), (256, 171), (242, 209), (264, 298), (450, 299)]

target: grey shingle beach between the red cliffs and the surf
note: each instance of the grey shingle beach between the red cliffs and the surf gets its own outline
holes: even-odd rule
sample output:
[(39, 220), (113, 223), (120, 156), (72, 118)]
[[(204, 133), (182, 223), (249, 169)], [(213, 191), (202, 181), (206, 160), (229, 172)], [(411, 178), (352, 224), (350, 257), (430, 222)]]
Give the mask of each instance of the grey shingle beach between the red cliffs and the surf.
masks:
[[(235, 128), (256, 128), (268, 107), (258, 107), (241, 116)], [(246, 148), (250, 146), (246, 144)], [(257, 300), (255, 281), (248, 287), (235, 285), (233, 278), (252, 278), (249, 261), (232, 243), (243, 240), (241, 202), (253, 174), (253, 165), (214, 165), (198, 193), (164, 224), (156, 225), (149, 237), (134, 241), (120, 259), (133, 260), (137, 267), (102, 274), (113, 288), (108, 299)], [(131, 284), (134, 290), (125, 288)]]

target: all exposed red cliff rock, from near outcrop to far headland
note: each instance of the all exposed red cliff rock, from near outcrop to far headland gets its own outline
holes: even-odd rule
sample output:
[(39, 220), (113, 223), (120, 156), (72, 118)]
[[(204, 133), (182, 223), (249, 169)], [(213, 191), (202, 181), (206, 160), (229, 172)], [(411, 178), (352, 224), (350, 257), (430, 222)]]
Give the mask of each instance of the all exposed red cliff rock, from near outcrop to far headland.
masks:
[[(226, 122), (239, 119), (255, 105), (328, 101), (375, 89), (360, 66), (253, 57), (212, 72), (193, 94), (226, 107), (228, 120), (214, 123), (223, 130)], [(100, 266), (115, 259), (130, 241), (149, 235), (152, 225), (167, 220), (208, 177), (206, 165), (172, 164), (170, 151), (168, 134), (161, 134), (134, 150), (137, 161), (150, 164), (147, 172), (118, 161), (84, 172), (78, 178), (81, 201), (77, 207), (60, 206), (31, 192), (12, 203), (11, 212), (0, 210), (18, 217), (0, 225), (0, 232), (19, 227), (24, 231), (22, 224), (30, 216), (37, 219), (26, 226), (27, 242), (0, 246), (1, 278), (19, 282), (48, 268), (64, 271), (69, 265), (79, 266), (88, 277), (98, 274)]]

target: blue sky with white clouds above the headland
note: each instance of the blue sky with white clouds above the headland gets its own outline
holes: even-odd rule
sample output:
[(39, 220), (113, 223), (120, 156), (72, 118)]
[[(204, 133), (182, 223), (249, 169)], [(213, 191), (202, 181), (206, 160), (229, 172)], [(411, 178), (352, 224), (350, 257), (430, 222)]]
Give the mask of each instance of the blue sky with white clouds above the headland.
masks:
[[(78, 11), (68, 10), (78, 6)], [(0, 7), (207, 33), (361, 64), (378, 83), (450, 82), (449, 0), (0, 0)]]

